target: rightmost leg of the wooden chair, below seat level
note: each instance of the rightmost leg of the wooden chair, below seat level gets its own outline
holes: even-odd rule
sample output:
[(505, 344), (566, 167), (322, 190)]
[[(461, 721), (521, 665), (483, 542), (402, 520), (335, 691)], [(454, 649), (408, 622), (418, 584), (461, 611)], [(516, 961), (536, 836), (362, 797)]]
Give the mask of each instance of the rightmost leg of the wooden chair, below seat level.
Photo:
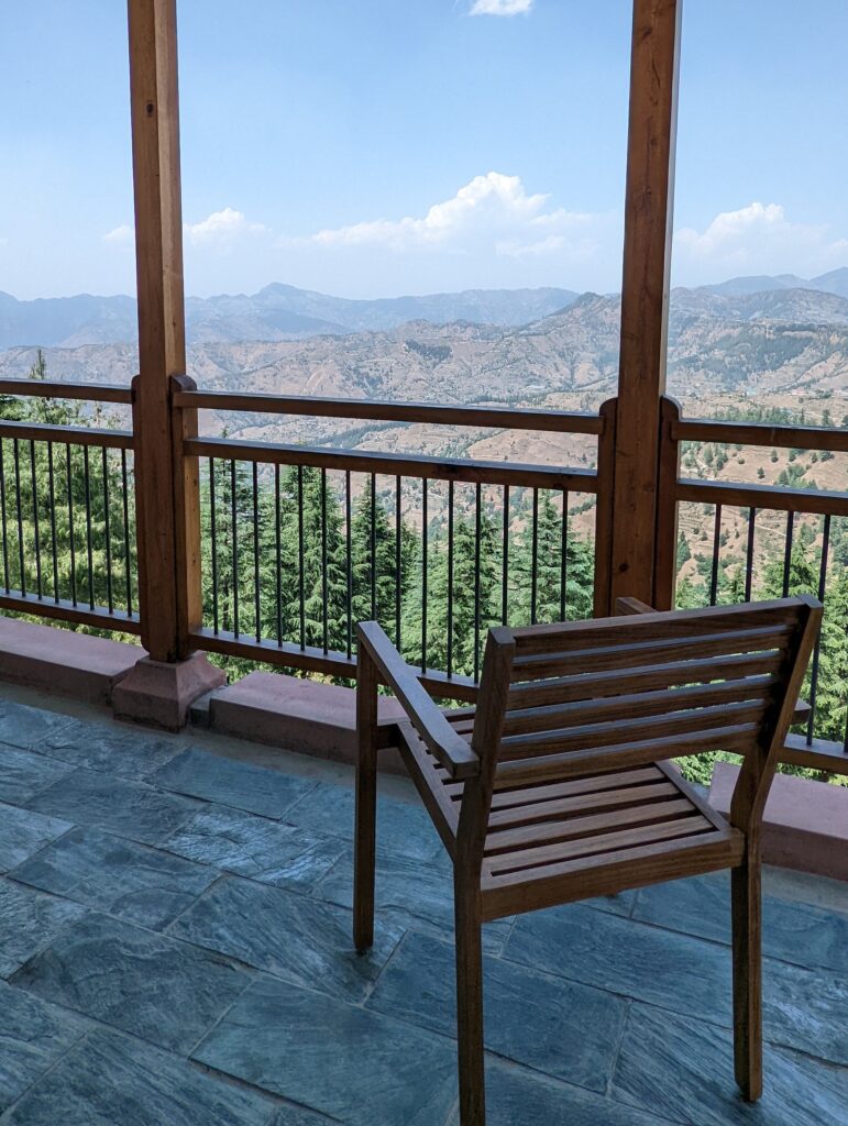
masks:
[(760, 861), (749, 854), (731, 876), (733, 924), (733, 1057), (742, 1098), (762, 1094), (762, 933)]

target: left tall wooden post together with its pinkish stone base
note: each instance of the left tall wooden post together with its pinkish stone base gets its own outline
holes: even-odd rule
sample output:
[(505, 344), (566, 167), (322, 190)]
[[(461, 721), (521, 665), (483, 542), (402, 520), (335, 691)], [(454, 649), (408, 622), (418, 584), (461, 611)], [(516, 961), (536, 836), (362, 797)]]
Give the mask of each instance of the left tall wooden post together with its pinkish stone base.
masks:
[[(223, 681), (200, 654), (199, 489), (182, 455), (196, 412), (175, 412), (186, 384), (176, 0), (128, 0), (139, 375), (133, 381), (139, 611), (149, 659), (115, 690), (120, 715), (166, 727)], [(190, 383), (190, 381), (189, 381)], [(190, 384), (194, 386), (194, 384)]]

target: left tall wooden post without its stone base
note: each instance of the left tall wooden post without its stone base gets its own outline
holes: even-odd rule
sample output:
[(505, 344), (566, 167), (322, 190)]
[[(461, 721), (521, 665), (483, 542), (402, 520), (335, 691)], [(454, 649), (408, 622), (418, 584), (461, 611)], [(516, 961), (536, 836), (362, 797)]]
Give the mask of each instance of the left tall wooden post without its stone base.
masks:
[[(197, 495), (177, 497), (171, 376), (186, 370), (176, 0), (128, 0), (139, 376), (133, 383), (142, 642), (154, 660), (187, 656), (189, 588), (199, 574), (180, 546), (199, 521)], [(182, 527), (180, 526), (182, 524)]]

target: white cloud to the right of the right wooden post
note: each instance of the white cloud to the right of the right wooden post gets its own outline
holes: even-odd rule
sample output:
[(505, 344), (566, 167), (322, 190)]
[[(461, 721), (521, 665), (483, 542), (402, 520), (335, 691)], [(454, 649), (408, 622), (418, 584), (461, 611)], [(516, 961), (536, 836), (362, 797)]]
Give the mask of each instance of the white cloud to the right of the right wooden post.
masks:
[(700, 283), (732, 274), (795, 272), (811, 276), (843, 265), (848, 240), (827, 226), (793, 223), (780, 204), (751, 203), (722, 212), (703, 230), (675, 234), (675, 274)]

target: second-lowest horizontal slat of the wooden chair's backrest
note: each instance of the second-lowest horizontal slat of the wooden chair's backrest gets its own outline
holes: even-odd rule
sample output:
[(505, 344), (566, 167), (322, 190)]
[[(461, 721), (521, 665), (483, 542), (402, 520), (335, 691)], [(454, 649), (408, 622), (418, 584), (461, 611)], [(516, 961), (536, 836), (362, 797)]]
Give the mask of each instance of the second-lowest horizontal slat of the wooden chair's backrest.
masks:
[(778, 683), (779, 679), (776, 676), (750, 677), (744, 680), (729, 680), (625, 696), (608, 696), (599, 700), (589, 699), (574, 704), (507, 712), (503, 734), (505, 736), (525, 735), (605, 720), (616, 723), (622, 717), (636, 720), (651, 715), (666, 715), (691, 707), (733, 704), (741, 700), (766, 700)]

